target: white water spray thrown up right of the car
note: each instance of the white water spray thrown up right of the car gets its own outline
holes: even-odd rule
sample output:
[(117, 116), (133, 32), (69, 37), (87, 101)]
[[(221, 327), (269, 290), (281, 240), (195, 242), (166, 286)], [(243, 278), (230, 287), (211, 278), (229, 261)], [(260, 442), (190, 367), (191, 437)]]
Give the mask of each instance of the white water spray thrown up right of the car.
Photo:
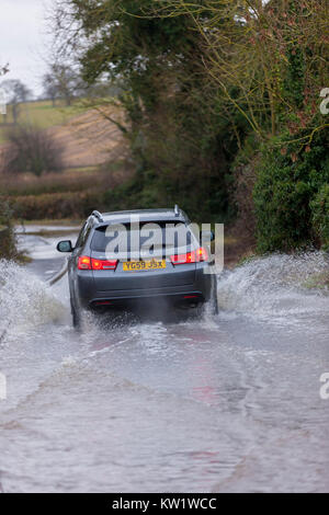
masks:
[(307, 321), (326, 317), (328, 290), (311, 288), (313, 279), (329, 277), (329, 260), (322, 252), (258, 258), (218, 281), (219, 308), (272, 321)]

